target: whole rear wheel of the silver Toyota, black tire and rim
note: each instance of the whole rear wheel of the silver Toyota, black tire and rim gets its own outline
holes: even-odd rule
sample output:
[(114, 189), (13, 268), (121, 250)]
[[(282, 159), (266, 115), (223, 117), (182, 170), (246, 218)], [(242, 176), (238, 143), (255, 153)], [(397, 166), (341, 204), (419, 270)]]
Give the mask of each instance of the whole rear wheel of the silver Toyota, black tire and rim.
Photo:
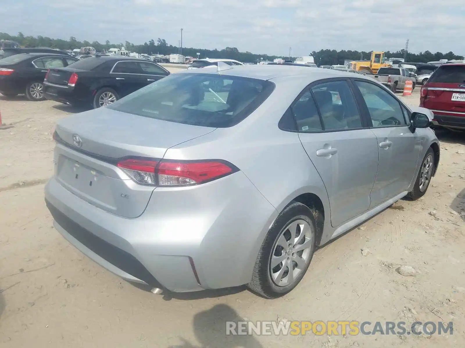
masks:
[(286, 295), (304, 277), (315, 242), (314, 214), (307, 206), (291, 202), (266, 234), (248, 287), (265, 298)]

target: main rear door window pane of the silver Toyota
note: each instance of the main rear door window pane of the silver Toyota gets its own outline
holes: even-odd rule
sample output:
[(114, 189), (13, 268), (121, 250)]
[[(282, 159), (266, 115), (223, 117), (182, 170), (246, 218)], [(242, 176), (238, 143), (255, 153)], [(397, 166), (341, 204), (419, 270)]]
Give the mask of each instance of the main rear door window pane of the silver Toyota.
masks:
[(346, 81), (331, 81), (316, 85), (312, 87), (312, 93), (324, 130), (362, 127), (357, 103)]

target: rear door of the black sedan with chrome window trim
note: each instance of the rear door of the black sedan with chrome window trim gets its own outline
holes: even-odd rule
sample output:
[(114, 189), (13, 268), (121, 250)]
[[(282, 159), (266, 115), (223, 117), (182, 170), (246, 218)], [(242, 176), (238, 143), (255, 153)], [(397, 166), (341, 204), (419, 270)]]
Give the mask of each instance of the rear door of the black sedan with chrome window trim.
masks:
[(116, 62), (110, 71), (118, 86), (120, 97), (124, 97), (136, 90), (147, 85), (147, 78), (142, 74), (139, 61), (137, 60), (120, 60)]

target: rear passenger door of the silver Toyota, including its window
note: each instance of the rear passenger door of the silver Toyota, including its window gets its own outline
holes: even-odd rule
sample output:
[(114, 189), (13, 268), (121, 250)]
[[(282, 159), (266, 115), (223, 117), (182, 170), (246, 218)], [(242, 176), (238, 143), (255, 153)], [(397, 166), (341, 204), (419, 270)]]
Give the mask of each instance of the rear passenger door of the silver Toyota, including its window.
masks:
[(364, 213), (378, 169), (378, 142), (346, 80), (304, 90), (292, 112), (305, 151), (328, 193), (331, 225)]

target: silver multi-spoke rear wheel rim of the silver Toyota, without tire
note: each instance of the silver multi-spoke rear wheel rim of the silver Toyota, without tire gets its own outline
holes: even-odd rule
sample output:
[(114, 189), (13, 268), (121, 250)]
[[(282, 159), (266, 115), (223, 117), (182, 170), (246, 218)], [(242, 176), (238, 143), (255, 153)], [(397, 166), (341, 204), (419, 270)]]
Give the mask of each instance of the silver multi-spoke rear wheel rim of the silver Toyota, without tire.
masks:
[(270, 258), (270, 277), (274, 284), (294, 283), (306, 270), (312, 248), (312, 227), (302, 219), (292, 221), (279, 234)]

